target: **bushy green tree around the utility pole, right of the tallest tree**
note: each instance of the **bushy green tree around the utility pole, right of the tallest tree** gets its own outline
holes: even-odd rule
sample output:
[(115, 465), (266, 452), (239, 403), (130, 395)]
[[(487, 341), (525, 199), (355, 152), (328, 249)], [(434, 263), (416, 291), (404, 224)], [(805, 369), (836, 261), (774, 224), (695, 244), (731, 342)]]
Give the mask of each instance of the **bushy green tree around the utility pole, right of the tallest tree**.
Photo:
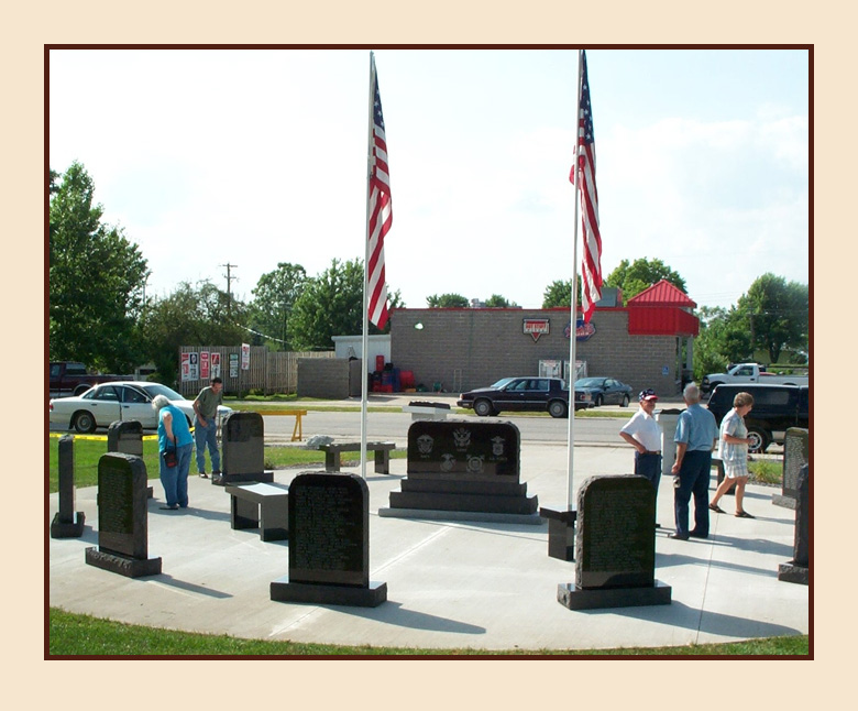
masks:
[[(246, 341), (248, 306), (209, 281), (182, 282), (162, 299), (151, 302), (140, 320), (144, 353), (158, 379), (174, 383), (180, 346), (239, 346)], [(230, 313), (232, 316), (230, 316)]]

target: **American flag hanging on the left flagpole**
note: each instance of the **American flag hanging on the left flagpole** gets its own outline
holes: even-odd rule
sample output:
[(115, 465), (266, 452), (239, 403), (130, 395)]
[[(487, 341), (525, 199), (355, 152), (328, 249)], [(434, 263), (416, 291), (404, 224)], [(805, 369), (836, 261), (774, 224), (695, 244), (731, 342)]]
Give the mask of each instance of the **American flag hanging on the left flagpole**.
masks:
[(391, 176), (387, 171), (387, 139), (384, 133), (382, 97), (378, 95), (378, 76), (375, 57), (371, 61), (370, 81), (373, 87), (373, 136), (370, 155), (370, 259), (366, 266), (370, 321), (380, 329), (387, 322), (387, 285), (384, 278), (384, 236), (393, 222), (391, 206)]

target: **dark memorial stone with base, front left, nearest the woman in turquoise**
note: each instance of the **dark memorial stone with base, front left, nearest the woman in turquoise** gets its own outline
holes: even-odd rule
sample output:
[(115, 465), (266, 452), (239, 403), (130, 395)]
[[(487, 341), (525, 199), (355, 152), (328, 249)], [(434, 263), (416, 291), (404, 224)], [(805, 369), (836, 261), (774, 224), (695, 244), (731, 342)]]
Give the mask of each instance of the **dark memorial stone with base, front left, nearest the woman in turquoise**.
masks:
[(108, 452), (98, 460), (98, 548), (86, 562), (129, 578), (161, 572), (148, 558), (146, 466), (133, 455)]

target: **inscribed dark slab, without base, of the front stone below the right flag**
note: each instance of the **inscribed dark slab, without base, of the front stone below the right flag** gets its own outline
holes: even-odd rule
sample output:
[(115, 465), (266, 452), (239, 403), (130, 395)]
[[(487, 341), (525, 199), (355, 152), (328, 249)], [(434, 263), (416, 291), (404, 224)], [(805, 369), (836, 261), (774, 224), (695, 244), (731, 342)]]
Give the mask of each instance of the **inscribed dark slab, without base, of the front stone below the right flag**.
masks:
[(652, 587), (656, 492), (642, 477), (592, 477), (579, 491), (576, 584)]

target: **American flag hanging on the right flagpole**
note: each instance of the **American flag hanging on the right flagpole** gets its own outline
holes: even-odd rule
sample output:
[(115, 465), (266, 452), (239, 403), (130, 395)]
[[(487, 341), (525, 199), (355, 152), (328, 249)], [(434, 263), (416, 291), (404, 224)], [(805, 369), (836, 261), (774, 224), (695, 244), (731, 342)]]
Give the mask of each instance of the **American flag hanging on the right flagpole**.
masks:
[[(581, 103), (578, 121), (578, 160), (569, 179), (578, 183), (581, 195), (581, 227), (584, 234), (584, 254), (581, 260), (584, 322), (590, 322), (593, 309), (602, 298), (602, 236), (598, 231), (598, 192), (596, 190), (596, 143), (593, 135), (593, 111), (590, 105), (587, 57), (581, 51)], [(575, 179), (578, 172), (580, 179)]]

